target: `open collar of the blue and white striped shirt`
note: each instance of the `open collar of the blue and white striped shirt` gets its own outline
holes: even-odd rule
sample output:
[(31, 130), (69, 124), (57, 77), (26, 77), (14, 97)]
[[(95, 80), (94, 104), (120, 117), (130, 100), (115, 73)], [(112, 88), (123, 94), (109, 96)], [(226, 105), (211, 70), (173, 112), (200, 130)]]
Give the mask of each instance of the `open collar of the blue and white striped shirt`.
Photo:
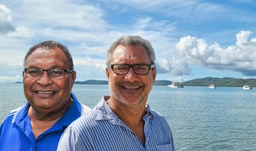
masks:
[[(119, 119), (119, 117), (114, 113), (111, 107), (108, 105), (107, 100), (110, 99), (110, 96), (104, 96), (100, 103), (94, 107), (94, 111), (92, 111), (93, 117), (95, 120), (110, 120), (113, 124), (123, 123)], [(149, 104), (146, 104), (146, 114), (143, 116), (143, 119), (153, 120), (153, 114)]]

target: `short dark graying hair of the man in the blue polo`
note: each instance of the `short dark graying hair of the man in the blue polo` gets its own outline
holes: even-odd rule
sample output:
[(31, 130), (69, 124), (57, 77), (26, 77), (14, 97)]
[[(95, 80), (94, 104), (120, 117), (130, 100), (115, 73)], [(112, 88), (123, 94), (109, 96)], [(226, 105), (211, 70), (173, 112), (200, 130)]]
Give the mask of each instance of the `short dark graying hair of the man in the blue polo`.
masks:
[(40, 42), (38, 44), (33, 45), (32, 47), (30, 47), (30, 49), (28, 50), (27, 54), (25, 55), (25, 59), (24, 59), (24, 67), (25, 67), (25, 61), (27, 61), (27, 58), (29, 55), (32, 54), (32, 52), (34, 52), (37, 48), (45, 48), (47, 50), (51, 49), (51, 48), (60, 48), (60, 50), (62, 50), (64, 52), (64, 54), (66, 55), (66, 58), (68, 58), (68, 66), (69, 66), (69, 70), (73, 71), (73, 59), (71, 57), (71, 54), (68, 50), (68, 47), (66, 47), (63, 44), (60, 44), (60, 42), (56, 42), (56, 41), (43, 41)]

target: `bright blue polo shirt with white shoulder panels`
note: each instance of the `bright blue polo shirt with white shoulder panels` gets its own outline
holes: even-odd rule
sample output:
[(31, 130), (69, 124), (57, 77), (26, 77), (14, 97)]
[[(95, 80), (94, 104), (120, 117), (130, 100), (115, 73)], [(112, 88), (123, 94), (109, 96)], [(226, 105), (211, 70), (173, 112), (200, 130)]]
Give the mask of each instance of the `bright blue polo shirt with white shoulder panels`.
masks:
[(68, 111), (46, 132), (34, 139), (28, 108), (26, 103), (18, 109), (12, 110), (0, 127), (0, 150), (56, 150), (60, 136), (74, 120), (82, 114), (87, 113), (89, 107), (78, 102), (75, 94), (71, 93), (73, 99)]

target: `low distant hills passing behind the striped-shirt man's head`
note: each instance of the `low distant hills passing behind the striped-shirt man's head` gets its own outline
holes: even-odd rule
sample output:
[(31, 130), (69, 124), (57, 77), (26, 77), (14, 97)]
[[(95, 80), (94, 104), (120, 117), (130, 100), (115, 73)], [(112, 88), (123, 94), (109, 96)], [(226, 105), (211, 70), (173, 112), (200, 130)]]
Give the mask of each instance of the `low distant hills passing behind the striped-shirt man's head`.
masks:
[[(105, 80), (87, 80), (87, 81), (75, 81), (75, 84), (108, 84), (108, 81)], [(155, 86), (167, 86), (171, 84), (171, 81), (168, 80), (156, 80)]]

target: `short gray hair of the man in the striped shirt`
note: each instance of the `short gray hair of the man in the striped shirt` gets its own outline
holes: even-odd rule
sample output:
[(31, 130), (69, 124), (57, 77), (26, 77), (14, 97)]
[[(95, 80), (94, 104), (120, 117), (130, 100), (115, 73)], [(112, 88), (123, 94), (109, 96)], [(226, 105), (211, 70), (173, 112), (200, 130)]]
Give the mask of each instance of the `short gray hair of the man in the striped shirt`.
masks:
[(107, 66), (110, 66), (112, 54), (117, 46), (119, 45), (142, 45), (145, 50), (148, 52), (149, 58), (151, 60), (152, 64), (155, 64), (155, 51), (153, 50), (153, 47), (151, 45), (151, 42), (148, 40), (144, 40), (142, 37), (139, 37), (138, 35), (124, 35), (123, 37), (120, 37), (117, 41), (115, 41), (107, 52)]

